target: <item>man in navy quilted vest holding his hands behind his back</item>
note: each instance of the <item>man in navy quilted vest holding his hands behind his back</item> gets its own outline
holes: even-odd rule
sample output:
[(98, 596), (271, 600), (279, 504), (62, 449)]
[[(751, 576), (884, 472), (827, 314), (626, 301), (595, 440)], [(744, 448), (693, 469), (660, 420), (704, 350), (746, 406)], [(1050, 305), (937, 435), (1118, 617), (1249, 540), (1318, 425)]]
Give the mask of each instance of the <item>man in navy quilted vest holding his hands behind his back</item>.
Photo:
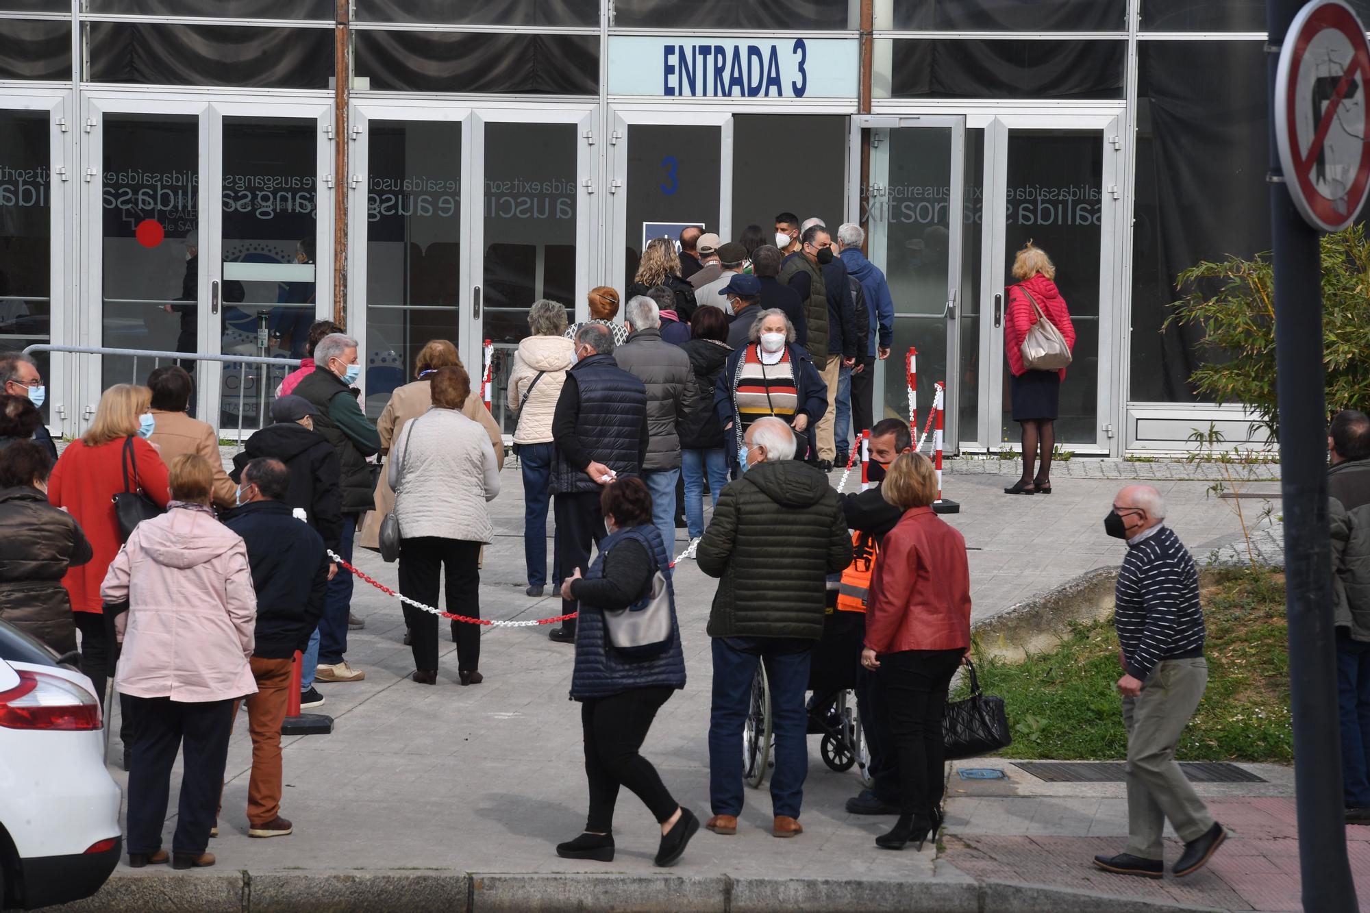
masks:
[[(603, 324), (581, 326), (575, 359), (552, 414), (556, 452), (551, 488), (563, 574), (589, 568), (590, 544), (599, 546), (606, 535), (603, 487), (619, 476), (640, 476), (649, 441), (647, 387), (614, 361), (610, 329)], [(577, 611), (578, 605), (563, 598), (562, 614)], [(575, 621), (563, 621), (548, 637), (575, 643)]]

